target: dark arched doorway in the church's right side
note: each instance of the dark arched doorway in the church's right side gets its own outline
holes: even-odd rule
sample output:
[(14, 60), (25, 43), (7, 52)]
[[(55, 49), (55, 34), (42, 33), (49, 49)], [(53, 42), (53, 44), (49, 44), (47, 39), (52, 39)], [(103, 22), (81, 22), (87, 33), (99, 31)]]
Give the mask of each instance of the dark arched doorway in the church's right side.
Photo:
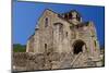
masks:
[(73, 53), (77, 54), (80, 52), (83, 52), (86, 49), (86, 45), (83, 40), (76, 40), (73, 44)]

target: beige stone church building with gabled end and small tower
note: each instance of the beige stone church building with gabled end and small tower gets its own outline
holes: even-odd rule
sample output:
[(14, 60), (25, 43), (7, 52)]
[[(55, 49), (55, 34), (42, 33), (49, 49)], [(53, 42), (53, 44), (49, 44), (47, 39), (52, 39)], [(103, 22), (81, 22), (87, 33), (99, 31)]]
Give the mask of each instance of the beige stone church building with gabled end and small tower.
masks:
[(26, 52), (88, 52), (98, 56), (99, 42), (95, 25), (92, 21), (84, 22), (77, 11), (59, 14), (47, 9), (37, 25), (27, 40)]

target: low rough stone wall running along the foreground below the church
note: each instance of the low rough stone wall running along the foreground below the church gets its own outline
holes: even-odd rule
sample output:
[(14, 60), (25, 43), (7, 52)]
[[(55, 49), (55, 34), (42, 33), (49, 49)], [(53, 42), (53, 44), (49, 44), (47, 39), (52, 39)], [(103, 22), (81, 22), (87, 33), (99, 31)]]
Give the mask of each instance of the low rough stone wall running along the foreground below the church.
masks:
[(101, 66), (101, 59), (89, 57), (87, 52), (72, 53), (27, 53), (14, 52), (13, 71), (56, 70), (68, 68)]

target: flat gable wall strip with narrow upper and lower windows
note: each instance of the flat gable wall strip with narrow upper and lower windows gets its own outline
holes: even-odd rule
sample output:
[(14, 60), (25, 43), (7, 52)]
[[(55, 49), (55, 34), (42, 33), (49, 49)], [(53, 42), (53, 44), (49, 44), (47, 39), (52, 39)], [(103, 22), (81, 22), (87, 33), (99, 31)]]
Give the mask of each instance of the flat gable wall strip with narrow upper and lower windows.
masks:
[[(43, 16), (39, 19), (39, 52), (49, 52), (52, 49), (52, 26), (51, 26), (52, 14), (49, 11), (45, 11)], [(37, 49), (37, 48), (36, 48)]]

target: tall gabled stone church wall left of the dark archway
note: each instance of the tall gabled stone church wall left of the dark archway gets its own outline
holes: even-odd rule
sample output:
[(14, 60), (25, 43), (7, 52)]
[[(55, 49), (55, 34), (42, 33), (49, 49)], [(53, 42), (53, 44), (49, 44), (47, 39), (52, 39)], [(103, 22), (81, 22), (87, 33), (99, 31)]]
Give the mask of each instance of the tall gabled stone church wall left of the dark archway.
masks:
[[(55, 25), (56, 23), (59, 23), (59, 25)], [(62, 27), (60, 24), (62, 24)], [(70, 24), (68, 22), (60, 19), (58, 14), (46, 10), (39, 19), (38, 25), (38, 35), (35, 33), (35, 45), (38, 45), (38, 47), (36, 46), (35, 49), (38, 48), (39, 53), (70, 51)]]

